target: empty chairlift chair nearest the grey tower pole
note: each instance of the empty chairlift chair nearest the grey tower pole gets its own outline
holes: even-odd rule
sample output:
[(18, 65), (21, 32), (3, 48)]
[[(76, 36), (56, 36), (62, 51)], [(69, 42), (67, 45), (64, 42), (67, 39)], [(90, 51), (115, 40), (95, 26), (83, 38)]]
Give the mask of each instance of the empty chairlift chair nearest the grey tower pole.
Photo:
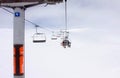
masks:
[(33, 42), (34, 43), (44, 43), (46, 42), (46, 36), (44, 33), (35, 33), (33, 35)]

